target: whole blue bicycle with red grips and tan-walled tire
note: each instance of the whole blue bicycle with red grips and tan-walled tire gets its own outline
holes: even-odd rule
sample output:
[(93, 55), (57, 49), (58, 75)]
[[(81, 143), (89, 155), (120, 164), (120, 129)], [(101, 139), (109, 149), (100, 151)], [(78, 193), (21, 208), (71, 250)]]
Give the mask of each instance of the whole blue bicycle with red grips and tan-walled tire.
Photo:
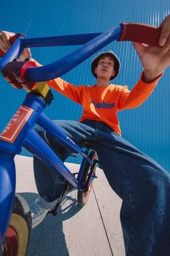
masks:
[[(133, 40), (158, 46), (160, 33), (161, 30), (156, 27), (124, 23), (104, 33), (30, 39), (18, 34), (11, 38), (13, 44), (0, 61), (0, 72), (14, 88), (27, 90), (27, 96), (0, 135), (0, 247), (3, 256), (25, 255), (32, 227), (27, 202), (19, 195), (15, 195), (14, 155), (19, 154), (22, 147), (66, 180), (60, 200), (52, 212), (54, 215), (61, 205), (63, 196), (71, 189), (78, 189), (78, 203), (83, 206), (89, 198), (92, 182), (96, 178), (97, 155), (91, 150), (90, 143), (87, 143), (86, 150), (82, 150), (43, 113), (45, 107), (53, 101), (50, 88), (44, 81), (65, 74), (112, 40)], [(43, 67), (37, 67), (34, 61), (28, 59), (17, 61), (26, 47), (66, 45), (83, 46)], [(33, 128), (35, 124), (56, 137), (65, 148), (82, 156), (83, 160), (77, 174), (72, 174), (37, 135)]]

